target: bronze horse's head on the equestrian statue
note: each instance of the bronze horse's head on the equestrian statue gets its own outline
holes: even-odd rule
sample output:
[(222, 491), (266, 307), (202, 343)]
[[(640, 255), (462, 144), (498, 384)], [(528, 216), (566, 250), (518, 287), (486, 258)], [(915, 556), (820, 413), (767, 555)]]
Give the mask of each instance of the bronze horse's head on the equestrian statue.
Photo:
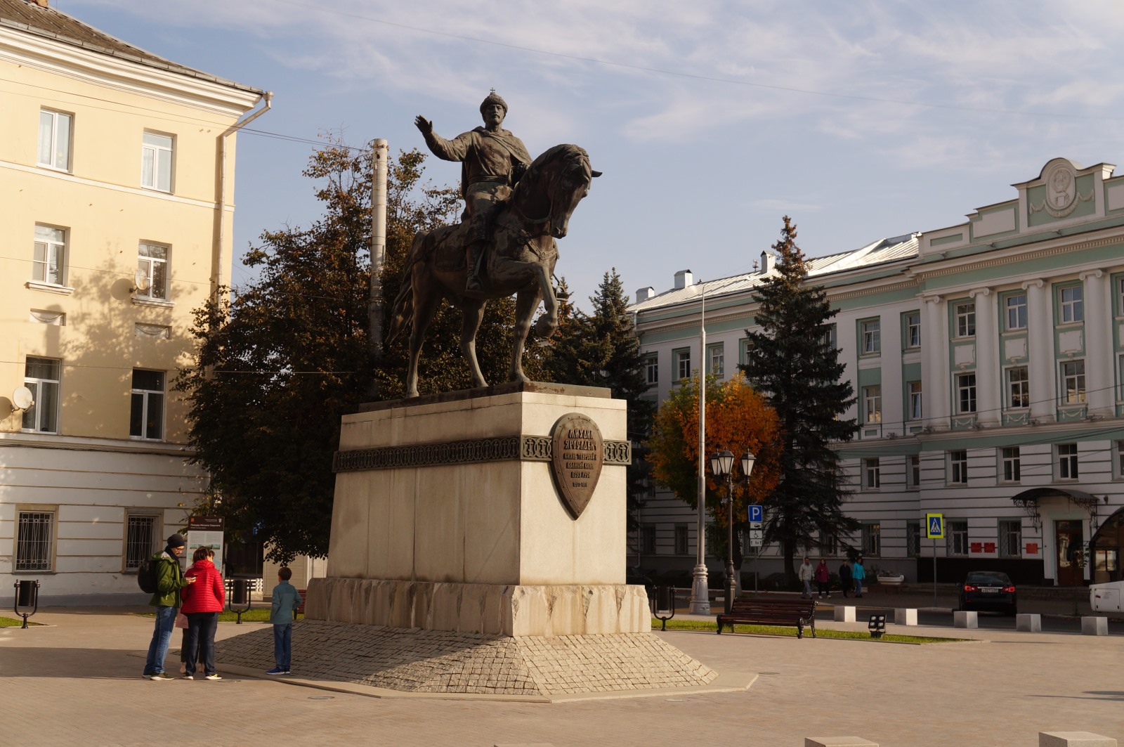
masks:
[[(577, 145), (555, 145), (531, 164), (516, 187), (513, 202), (532, 223), (545, 224), (555, 238), (565, 236), (578, 202), (600, 171), (589, 165), (589, 154)], [(545, 214), (545, 217), (538, 217)]]

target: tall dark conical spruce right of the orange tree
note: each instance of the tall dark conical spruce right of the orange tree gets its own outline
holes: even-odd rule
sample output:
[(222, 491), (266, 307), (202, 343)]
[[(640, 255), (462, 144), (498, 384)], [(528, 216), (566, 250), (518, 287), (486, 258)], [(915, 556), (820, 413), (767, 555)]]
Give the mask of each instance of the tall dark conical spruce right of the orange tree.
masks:
[(835, 310), (823, 287), (807, 285), (796, 225), (787, 215), (772, 249), (777, 272), (756, 294), (761, 331), (746, 331), (750, 351), (741, 369), (780, 418), (780, 482), (765, 502), (764, 539), (780, 543), (792, 583), (798, 548), (859, 529), (843, 513), (846, 493), (831, 446), (854, 435), (855, 421), (839, 415), (855, 399), (830, 340)]

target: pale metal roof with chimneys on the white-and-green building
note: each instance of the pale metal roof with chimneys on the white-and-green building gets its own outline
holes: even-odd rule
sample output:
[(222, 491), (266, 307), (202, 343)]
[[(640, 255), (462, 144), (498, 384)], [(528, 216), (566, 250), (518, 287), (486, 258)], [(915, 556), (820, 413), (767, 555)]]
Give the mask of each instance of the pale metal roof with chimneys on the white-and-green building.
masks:
[[(827, 256), (813, 256), (806, 260), (809, 278), (823, 278), (833, 272), (845, 272), (849, 270), (870, 269), (879, 264), (896, 262), (899, 260), (917, 256), (919, 234), (905, 234), (891, 238), (880, 238), (860, 249), (840, 254), (828, 254)], [(729, 294), (751, 290), (760, 286), (764, 280), (777, 273), (773, 262), (776, 258), (770, 255), (770, 267), (765, 272), (753, 271), (728, 278), (716, 280), (699, 280), (685, 288), (673, 288), (651, 298), (633, 304), (628, 307), (631, 312), (650, 312), (656, 308), (674, 306), (695, 302), (703, 292), (707, 299), (717, 298)]]

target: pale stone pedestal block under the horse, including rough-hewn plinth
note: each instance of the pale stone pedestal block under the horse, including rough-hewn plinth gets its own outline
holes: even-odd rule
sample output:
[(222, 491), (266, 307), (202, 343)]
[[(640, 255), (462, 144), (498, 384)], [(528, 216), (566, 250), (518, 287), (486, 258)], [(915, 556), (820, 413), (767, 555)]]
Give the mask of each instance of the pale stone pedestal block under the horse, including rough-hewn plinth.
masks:
[[(624, 585), (631, 450), (626, 405), (608, 389), (508, 384), (363, 411), (343, 418), (328, 577), (309, 584), (310, 619), (507, 636), (651, 630), (643, 587)], [(556, 441), (552, 462), (560, 421), (574, 415), (597, 438)], [(599, 470), (565, 450), (595, 440)], [(577, 518), (563, 478), (587, 492)]]

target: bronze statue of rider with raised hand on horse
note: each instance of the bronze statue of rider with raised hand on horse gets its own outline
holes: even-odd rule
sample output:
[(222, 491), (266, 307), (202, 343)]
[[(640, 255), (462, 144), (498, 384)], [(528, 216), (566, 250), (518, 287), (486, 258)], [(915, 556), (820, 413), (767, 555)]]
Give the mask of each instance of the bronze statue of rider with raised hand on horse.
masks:
[(559, 258), (555, 238), (566, 234), (570, 216), (589, 194), (589, 154), (577, 145), (555, 145), (534, 161), (523, 141), (500, 125), (507, 104), (492, 91), (480, 105), (484, 126), (446, 141), (433, 123), (415, 124), (433, 153), (461, 161), (461, 223), (414, 236), (395, 298), (388, 344), (411, 325), (406, 396), (418, 395), (418, 356), (442, 299), (461, 309), (461, 352), (474, 387), (487, 386), (477, 361), (475, 339), (489, 299), (516, 295), (515, 340), (509, 380), (526, 381), (523, 348), (538, 304), (545, 314), (535, 332), (558, 328), (558, 298), (551, 278)]

